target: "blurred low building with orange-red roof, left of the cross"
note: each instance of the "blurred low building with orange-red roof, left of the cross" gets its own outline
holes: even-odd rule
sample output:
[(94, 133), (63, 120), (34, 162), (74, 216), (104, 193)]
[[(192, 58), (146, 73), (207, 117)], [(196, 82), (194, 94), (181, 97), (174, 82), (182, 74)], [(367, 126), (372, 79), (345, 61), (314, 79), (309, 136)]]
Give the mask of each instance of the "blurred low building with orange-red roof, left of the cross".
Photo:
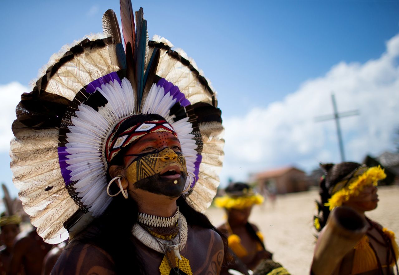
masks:
[(257, 189), (262, 194), (285, 194), (309, 189), (306, 173), (296, 167), (284, 167), (253, 175)]

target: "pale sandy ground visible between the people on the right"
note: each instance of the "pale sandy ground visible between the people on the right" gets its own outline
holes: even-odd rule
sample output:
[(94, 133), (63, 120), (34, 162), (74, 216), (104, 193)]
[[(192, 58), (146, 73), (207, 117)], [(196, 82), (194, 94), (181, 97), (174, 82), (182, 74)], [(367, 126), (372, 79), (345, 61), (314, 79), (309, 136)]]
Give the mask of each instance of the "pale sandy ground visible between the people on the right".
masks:
[[(367, 216), (399, 236), (399, 186), (379, 187), (378, 194), (379, 205)], [(317, 190), (279, 195), (274, 207), (270, 201), (255, 206), (249, 219), (262, 231), (267, 249), (274, 253), (273, 259), (293, 275), (309, 274), (316, 233), (315, 199), (318, 199)], [(223, 209), (215, 207), (209, 208), (207, 215), (214, 225), (225, 219)]]

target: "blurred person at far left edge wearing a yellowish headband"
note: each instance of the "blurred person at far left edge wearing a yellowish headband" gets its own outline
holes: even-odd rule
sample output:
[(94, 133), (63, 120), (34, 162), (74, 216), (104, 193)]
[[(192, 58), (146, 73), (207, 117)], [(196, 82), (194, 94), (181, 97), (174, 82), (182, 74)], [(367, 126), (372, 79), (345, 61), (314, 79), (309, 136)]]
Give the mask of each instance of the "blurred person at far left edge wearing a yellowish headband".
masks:
[[(0, 241), (3, 245), (0, 247), (0, 275), (10, 272), (11, 255), (14, 246), (14, 239), (20, 233), (21, 217), (17, 215), (0, 217)], [(19, 266), (19, 272), (22, 266)]]

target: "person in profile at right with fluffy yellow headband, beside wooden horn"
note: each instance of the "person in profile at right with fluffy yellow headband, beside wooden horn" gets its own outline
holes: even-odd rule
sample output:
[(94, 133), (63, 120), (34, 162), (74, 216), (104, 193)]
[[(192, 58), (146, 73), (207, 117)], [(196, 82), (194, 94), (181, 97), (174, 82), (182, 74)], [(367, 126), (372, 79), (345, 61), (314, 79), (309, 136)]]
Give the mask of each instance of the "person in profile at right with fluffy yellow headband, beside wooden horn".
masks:
[(320, 234), (311, 274), (385, 275), (394, 274), (395, 265), (398, 273), (395, 234), (365, 216), (377, 208), (377, 183), (386, 177), (384, 170), (354, 162), (321, 166), (326, 174), (314, 216)]

